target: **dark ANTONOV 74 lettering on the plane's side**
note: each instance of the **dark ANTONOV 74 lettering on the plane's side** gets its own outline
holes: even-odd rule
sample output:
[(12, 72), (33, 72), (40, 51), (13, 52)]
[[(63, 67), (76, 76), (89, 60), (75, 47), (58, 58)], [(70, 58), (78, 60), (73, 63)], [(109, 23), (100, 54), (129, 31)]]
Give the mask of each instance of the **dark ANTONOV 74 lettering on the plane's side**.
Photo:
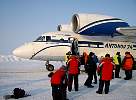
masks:
[(105, 48), (133, 49), (133, 45), (107, 43)]

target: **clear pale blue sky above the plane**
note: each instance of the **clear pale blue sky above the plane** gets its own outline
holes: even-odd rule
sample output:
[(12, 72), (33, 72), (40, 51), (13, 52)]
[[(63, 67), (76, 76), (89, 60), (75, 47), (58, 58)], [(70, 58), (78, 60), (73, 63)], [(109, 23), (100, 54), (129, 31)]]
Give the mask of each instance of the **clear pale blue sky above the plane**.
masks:
[(56, 31), (75, 13), (110, 15), (136, 26), (135, 10), (136, 0), (0, 0), (0, 54)]

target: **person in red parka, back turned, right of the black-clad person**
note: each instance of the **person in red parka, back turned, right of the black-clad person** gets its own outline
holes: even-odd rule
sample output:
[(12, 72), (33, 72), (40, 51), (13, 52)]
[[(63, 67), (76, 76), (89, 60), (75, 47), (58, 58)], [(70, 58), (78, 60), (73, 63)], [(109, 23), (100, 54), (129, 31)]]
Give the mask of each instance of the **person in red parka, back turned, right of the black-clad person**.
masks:
[(102, 94), (103, 87), (105, 84), (105, 94), (108, 94), (110, 80), (112, 80), (112, 72), (113, 72), (114, 66), (115, 65), (112, 62), (110, 55), (106, 54), (105, 58), (102, 60), (102, 62), (100, 63), (100, 65), (97, 69), (97, 71), (100, 75), (100, 80), (99, 80), (99, 88), (98, 88), (98, 91), (96, 91), (96, 93)]

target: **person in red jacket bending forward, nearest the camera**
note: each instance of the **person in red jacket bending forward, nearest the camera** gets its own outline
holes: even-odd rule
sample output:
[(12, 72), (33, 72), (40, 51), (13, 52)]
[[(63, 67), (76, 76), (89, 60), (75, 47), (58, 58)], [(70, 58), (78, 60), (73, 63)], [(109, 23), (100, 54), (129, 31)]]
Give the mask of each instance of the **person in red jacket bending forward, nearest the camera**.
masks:
[(67, 75), (66, 67), (62, 65), (55, 73), (49, 73), (51, 77), (52, 98), (53, 100), (68, 100), (66, 96)]

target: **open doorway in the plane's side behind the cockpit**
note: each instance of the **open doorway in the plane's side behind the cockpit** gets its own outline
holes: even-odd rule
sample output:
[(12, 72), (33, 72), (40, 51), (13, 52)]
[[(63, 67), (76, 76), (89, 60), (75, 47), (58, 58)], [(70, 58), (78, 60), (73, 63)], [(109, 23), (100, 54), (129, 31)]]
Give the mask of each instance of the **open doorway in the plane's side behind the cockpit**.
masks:
[(70, 43), (71, 43), (71, 53), (72, 55), (79, 55), (78, 51), (78, 39), (74, 37), (69, 38)]

